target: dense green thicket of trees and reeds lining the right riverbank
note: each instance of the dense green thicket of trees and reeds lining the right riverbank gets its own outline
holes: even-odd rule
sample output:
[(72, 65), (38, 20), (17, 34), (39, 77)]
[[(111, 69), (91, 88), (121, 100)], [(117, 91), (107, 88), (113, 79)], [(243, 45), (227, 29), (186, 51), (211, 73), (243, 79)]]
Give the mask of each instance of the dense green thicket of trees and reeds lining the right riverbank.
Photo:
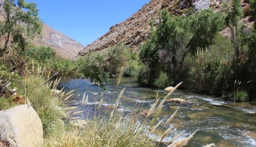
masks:
[[(255, 2), (251, 3), (255, 16)], [(233, 1), (226, 15), (200, 10), (188, 16), (170, 16), (163, 11), (159, 26), (141, 47), (139, 59), (145, 67), (140, 69), (138, 84), (164, 87), (184, 81), (184, 88), (234, 101), (244, 101), (249, 94), (253, 100), (255, 30), (246, 32), (241, 18), (240, 0)], [(230, 29), (230, 39), (218, 33), (225, 27)]]

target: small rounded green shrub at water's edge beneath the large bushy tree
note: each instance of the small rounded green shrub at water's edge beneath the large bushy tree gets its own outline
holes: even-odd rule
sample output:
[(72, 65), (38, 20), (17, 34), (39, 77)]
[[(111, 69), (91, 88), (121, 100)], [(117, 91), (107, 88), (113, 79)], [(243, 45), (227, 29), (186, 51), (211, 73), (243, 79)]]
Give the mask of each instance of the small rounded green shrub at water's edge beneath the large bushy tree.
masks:
[(166, 88), (172, 84), (173, 81), (171, 81), (168, 75), (164, 72), (161, 72), (154, 82), (154, 85), (160, 88)]

